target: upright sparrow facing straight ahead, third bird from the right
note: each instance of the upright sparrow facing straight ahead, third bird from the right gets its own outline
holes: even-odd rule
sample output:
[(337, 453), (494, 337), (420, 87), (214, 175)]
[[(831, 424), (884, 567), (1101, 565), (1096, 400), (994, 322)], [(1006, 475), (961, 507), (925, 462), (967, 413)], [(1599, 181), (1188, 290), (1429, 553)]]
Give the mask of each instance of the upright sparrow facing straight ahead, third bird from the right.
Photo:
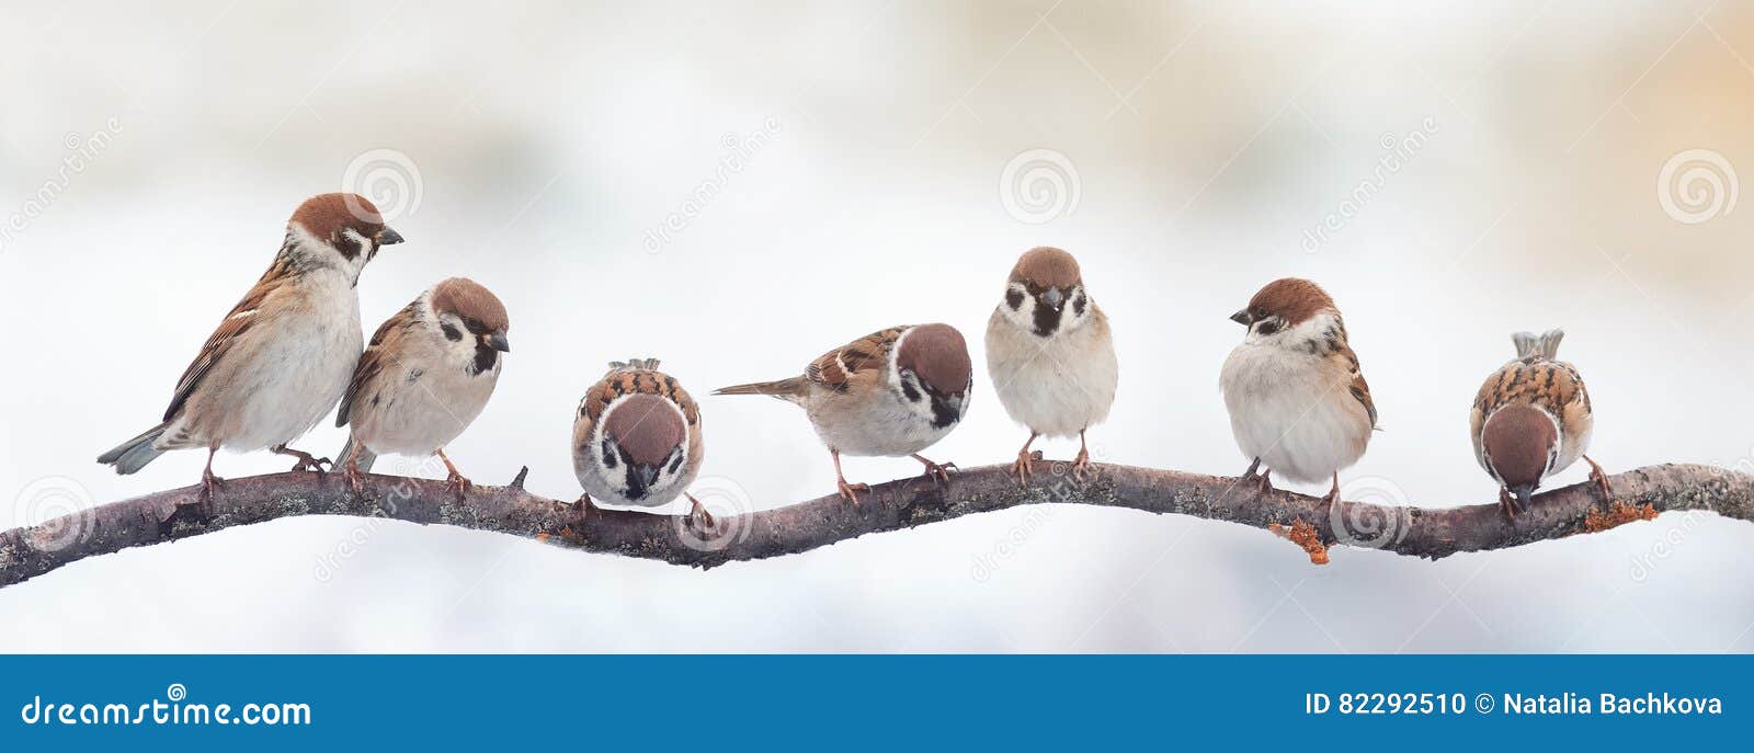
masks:
[(1079, 435), (1072, 476), (1091, 465), (1084, 430), (1109, 418), (1121, 367), (1109, 316), (1084, 290), (1079, 262), (1056, 247), (1035, 247), (1005, 281), (986, 335), (993, 390), (1012, 421), (1030, 430), (1012, 472), (1030, 481), (1030, 444), (1037, 437)]

